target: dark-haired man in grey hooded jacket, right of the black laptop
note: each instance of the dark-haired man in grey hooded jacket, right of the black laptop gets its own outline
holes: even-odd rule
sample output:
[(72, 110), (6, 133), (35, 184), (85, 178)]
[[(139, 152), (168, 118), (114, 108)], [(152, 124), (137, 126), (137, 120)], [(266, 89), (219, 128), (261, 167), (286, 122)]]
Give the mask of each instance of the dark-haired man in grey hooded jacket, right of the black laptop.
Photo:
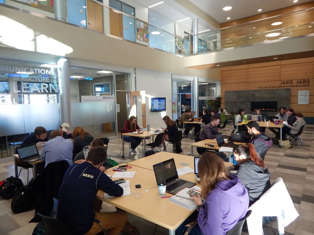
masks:
[(267, 135), (260, 132), (260, 127), (257, 122), (251, 121), (246, 124), (246, 127), (247, 131), (251, 135), (254, 135), (250, 143), (254, 144), (258, 156), (264, 160), (264, 153), (273, 145), (273, 141)]

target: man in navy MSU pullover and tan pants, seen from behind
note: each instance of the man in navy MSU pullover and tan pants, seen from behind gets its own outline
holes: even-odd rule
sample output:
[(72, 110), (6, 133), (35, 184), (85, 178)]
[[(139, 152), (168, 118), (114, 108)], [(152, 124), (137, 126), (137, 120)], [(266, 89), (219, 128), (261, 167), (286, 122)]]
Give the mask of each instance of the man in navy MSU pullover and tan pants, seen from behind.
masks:
[(118, 235), (121, 230), (138, 234), (138, 229), (127, 222), (126, 212), (97, 212), (93, 202), (98, 190), (110, 196), (122, 196), (123, 189), (97, 168), (106, 160), (106, 149), (96, 146), (90, 149), (86, 161), (71, 165), (64, 174), (59, 189), (57, 219), (61, 220), (72, 234), (94, 235), (105, 232)]

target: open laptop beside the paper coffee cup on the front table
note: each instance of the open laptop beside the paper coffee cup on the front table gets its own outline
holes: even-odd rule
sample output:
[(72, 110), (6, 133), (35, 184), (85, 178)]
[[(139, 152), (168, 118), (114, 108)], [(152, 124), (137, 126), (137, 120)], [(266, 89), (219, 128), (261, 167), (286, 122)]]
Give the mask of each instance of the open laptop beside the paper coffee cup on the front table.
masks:
[(157, 184), (166, 183), (166, 192), (176, 194), (184, 188), (196, 185), (193, 182), (179, 179), (176, 164), (173, 158), (153, 165)]

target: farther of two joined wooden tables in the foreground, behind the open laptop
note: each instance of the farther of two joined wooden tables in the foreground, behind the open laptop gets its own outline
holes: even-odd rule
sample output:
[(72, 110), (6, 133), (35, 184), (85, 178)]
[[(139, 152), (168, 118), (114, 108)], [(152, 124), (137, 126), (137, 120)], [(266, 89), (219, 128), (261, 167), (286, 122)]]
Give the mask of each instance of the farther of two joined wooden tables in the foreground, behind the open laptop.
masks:
[[(169, 160), (173, 158), (175, 160), (176, 164), (176, 169), (183, 168), (185, 166), (180, 165), (181, 163), (186, 163), (188, 164), (188, 167), (194, 169), (194, 157), (188, 156), (188, 155), (181, 155), (181, 154), (174, 154), (174, 153), (168, 153), (168, 152), (159, 152), (153, 155), (150, 155), (145, 158), (141, 158), (138, 160), (135, 160), (133, 162), (128, 163), (129, 165), (132, 166), (137, 166), (137, 167), (142, 167), (147, 170), (154, 170), (153, 165)], [(231, 163), (225, 162), (227, 166), (231, 166)], [(192, 180), (195, 181), (195, 174), (194, 173), (189, 173), (185, 175), (180, 175), (179, 178), (182, 179), (187, 179), (187, 180)]]

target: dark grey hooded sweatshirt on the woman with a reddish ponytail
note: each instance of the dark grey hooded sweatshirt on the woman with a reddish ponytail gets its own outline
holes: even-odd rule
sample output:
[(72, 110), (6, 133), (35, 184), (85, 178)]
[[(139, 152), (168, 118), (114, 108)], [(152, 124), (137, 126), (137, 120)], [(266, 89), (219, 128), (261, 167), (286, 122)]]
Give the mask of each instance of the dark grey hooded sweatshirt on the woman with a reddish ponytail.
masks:
[(270, 172), (251, 160), (235, 165), (236, 175), (241, 179), (249, 194), (250, 206), (270, 188)]

